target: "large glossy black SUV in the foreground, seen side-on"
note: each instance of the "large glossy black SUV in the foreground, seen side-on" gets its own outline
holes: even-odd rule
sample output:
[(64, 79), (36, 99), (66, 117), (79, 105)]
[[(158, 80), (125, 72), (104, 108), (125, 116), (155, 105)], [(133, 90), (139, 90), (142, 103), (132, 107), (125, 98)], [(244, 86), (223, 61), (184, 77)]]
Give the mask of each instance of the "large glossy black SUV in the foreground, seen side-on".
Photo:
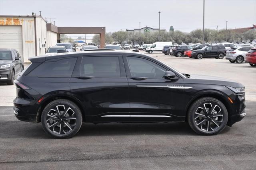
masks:
[(82, 122), (186, 120), (214, 135), (246, 115), (242, 84), (181, 74), (142, 53), (94, 50), (30, 61), (16, 80), (14, 113), (56, 138), (74, 136)]

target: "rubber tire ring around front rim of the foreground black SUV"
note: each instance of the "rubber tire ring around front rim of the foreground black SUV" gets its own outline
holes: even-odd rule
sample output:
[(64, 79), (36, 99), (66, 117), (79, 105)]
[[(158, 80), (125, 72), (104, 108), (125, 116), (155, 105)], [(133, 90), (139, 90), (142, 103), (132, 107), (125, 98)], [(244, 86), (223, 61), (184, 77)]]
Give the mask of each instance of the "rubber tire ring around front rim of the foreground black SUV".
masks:
[[(209, 103), (212, 102), (214, 104), (218, 104), (218, 106), (221, 107), (222, 111), (223, 111), (223, 122), (220, 125), (220, 127), (218, 127), (218, 129), (216, 129), (215, 131), (203, 131), (201, 130), (197, 125), (196, 122), (194, 121), (194, 113), (196, 112), (196, 109), (202, 104), (202, 103)], [(224, 106), (224, 104), (222, 104), (222, 102), (220, 102), (219, 100), (215, 99), (215, 98), (201, 98), (199, 100), (197, 100), (196, 102), (194, 102), (194, 104), (192, 104), (192, 106), (189, 109), (188, 112), (188, 122), (190, 127), (198, 134), (200, 135), (216, 135), (217, 133), (220, 133), (225, 127), (226, 124), (228, 122), (228, 111), (226, 109), (226, 107)]]

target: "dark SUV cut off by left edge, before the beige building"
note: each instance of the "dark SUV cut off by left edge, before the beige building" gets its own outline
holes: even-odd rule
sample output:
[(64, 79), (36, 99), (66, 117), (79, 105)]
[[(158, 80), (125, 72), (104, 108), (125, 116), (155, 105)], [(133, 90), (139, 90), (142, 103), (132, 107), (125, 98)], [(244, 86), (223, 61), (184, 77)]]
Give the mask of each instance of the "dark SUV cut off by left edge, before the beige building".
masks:
[(0, 49), (0, 82), (13, 85), (23, 69), (22, 58), (16, 49)]

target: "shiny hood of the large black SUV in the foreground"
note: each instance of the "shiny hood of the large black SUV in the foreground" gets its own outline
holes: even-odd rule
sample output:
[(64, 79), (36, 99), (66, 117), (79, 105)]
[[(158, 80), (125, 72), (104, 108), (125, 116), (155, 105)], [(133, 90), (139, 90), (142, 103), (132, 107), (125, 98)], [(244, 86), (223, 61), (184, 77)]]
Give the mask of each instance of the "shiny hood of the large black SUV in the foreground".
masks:
[(236, 82), (235, 80), (231, 80), (228, 78), (215, 77), (215, 76), (204, 76), (204, 75), (190, 75), (188, 78), (189, 83), (200, 83), (200, 84), (215, 84), (221, 86), (231, 86), (234, 88), (243, 88), (244, 86)]

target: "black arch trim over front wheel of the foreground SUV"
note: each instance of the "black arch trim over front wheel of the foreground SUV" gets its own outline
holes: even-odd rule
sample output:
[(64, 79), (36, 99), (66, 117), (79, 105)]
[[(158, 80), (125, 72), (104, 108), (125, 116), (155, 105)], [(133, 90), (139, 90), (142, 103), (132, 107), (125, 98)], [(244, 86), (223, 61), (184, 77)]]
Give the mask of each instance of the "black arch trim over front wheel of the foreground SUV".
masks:
[(227, 125), (228, 126), (231, 126), (232, 125), (232, 122), (231, 122), (231, 119), (230, 119), (230, 116), (232, 115), (232, 109), (231, 109), (231, 106), (229, 104), (229, 101), (228, 101), (228, 96), (225, 96), (224, 94), (222, 94), (221, 92), (218, 92), (218, 91), (208, 91), (208, 92), (202, 92), (196, 96), (194, 96), (194, 98), (192, 98), (187, 106), (186, 106), (186, 109), (185, 109), (185, 113), (186, 113), (186, 117), (185, 117), (185, 120), (187, 121), (188, 119), (188, 109), (190, 108), (190, 106), (198, 99), (200, 98), (204, 98), (204, 97), (212, 97), (212, 98), (216, 98), (218, 100), (220, 100), (220, 102), (222, 102), (224, 104), (224, 106), (226, 107), (227, 111), (228, 111), (228, 122), (227, 122)]

